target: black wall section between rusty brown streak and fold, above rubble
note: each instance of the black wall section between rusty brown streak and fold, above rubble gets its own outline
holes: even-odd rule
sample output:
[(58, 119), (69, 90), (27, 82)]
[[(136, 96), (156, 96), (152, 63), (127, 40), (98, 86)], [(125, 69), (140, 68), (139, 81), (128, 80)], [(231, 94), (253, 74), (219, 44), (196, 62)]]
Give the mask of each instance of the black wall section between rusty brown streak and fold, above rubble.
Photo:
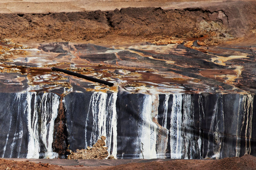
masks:
[(72, 92), (64, 99), (69, 149), (92, 147), (99, 137), (104, 136), (107, 138), (108, 153), (116, 156), (117, 93)]

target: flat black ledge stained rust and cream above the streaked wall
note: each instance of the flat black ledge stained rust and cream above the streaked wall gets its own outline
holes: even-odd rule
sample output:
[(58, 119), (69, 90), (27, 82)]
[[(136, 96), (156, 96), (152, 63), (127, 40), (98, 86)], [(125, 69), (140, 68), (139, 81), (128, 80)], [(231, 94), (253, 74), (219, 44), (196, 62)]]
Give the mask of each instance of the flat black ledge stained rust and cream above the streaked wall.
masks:
[[(198, 93), (223, 90), (229, 92), (242, 92), (244, 90), (253, 93), (255, 92), (253, 82), (254, 79), (256, 80), (256, 74), (254, 74), (256, 73), (256, 69), (254, 69), (254, 56), (250, 55), (250, 51), (252, 52), (253, 47), (208, 47), (209, 52), (201, 52), (196, 49), (187, 48), (184, 44), (171, 46), (170, 48), (168, 48), (168, 45), (157, 46), (147, 43), (128, 48), (106, 48), (94, 44), (58, 42), (40, 44), (38, 49), (44, 51), (39, 53), (40, 55), (43, 55), (43, 57), (38, 57), (38, 60), (31, 60), (30, 55), (28, 55), (25, 60), (27, 61), (26, 63), (14, 60), (14, 62), (6, 62), (6, 64), (38, 67), (39, 65), (47, 65), (47, 61), (49, 61), (49, 63), (53, 63), (53, 66), (55, 66), (55, 63), (56, 67), (59, 68), (72, 68), (72, 71), (76, 71), (76, 69), (79, 71), (79, 68), (85, 68), (85, 72), (81, 72), (82, 74), (95, 76), (95, 78), (108, 78), (112, 79), (112, 81), (118, 80), (117, 82), (126, 81), (125, 84), (136, 84), (135, 86), (138, 86), (138, 82), (144, 82), (144, 85), (146, 86), (150, 83), (166, 84), (168, 78), (160, 75), (159, 72), (161, 72), (161, 74), (175, 78), (198, 79), (199, 81), (197, 81), (197, 83), (191, 81), (173, 82), (173, 80), (168, 82), (168, 85), (171, 84), (177, 88), (183, 87), (183, 89), (186, 89), (186, 92), (190, 91), (192, 93)], [(225, 52), (225, 50), (228, 50), (228, 52)], [(241, 57), (239, 57), (239, 55)], [(49, 57), (47, 58), (47, 56)], [(235, 57), (230, 58), (232, 56)], [(40, 63), (36, 63), (36, 61), (40, 61)], [(66, 63), (66, 65), (58, 65), (58, 63)], [(99, 66), (95, 67), (95, 65)], [(102, 65), (104, 67), (100, 67)], [(92, 68), (92, 70), (89, 71), (89, 74), (87, 71), (88, 68)], [(131, 70), (131, 68), (135, 70)], [(118, 77), (116, 75), (116, 70), (118, 69), (123, 69), (126, 72), (132, 71), (132, 74), (118, 73), (117, 75), (122, 75), (122, 77)], [(147, 69), (151, 69), (149, 71), (149, 73), (152, 74), (151, 76), (149, 76), (148, 73), (146, 74), (145, 71), (148, 71)], [(108, 72), (104, 70), (108, 70)], [(136, 70), (142, 71), (140, 72), (140, 75), (134, 75), (134, 71)], [(236, 75), (233, 77), (231, 74), (226, 74), (222, 77), (215, 75), (203, 76), (198, 72), (200, 70), (233, 70)], [(159, 77), (156, 80), (154, 76), (157, 74), (159, 74)], [(90, 82), (72, 76), (66, 76), (65, 74), (60, 75), (69, 79), (66, 82), (70, 84), (68, 86), (69, 88), (72, 87), (73, 90), (82, 92), (86, 91), (86, 88), (94, 88), (93, 86), (90, 86), (90, 84), (92, 84)], [(40, 83), (37, 83), (39, 86), (43, 87), (38, 88), (48, 88), (43, 82), (41, 85)], [(55, 89), (58, 91), (58, 94), (65, 93), (65, 88), (62, 88), (62, 92), (60, 90), (61, 83), (57, 83), (58, 88), (54, 88), (53, 84), (54, 81), (51, 83), (51, 92), (54, 92)], [(118, 85), (120, 84), (117, 83), (117, 86)], [(154, 86), (159, 87), (159, 85)], [(36, 89), (40, 90), (38, 88)], [(166, 88), (168, 90), (168, 87)], [(8, 92), (8, 88), (4, 89)], [(164, 92), (164, 89), (162, 91)]]

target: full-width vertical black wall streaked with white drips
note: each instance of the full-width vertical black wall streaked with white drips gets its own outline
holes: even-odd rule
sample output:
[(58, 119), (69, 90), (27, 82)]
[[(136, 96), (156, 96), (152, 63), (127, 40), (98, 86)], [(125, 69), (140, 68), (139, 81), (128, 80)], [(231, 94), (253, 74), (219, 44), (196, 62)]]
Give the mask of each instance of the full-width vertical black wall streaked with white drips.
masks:
[(105, 136), (109, 154), (118, 159), (256, 156), (252, 94), (148, 95), (120, 89), (71, 92), (62, 99), (43, 92), (0, 96), (0, 156), (5, 158), (58, 156), (53, 143), (60, 102), (72, 151)]

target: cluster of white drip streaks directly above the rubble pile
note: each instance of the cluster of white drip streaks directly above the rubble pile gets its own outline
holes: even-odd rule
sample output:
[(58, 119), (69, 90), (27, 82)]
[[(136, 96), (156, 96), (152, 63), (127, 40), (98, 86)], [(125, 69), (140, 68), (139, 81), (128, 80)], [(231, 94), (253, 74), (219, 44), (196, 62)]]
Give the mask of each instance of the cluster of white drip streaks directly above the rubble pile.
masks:
[[(92, 146), (101, 136), (106, 137), (108, 153), (112, 150), (112, 155), (117, 154), (117, 114), (116, 99), (117, 93), (112, 93), (109, 101), (108, 94), (103, 92), (93, 92), (85, 120), (85, 147)], [(89, 114), (92, 112), (93, 126), (90, 136), (90, 143), (87, 143), (87, 126), (90, 122)], [(111, 148), (111, 143), (113, 147)]]

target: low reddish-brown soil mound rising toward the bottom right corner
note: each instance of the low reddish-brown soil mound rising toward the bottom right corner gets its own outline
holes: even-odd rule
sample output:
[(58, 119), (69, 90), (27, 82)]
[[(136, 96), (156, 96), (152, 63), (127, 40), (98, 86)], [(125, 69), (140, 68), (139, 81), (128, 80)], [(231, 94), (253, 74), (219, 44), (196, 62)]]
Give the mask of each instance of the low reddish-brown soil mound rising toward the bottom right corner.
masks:
[(256, 158), (245, 155), (241, 158), (224, 158), (220, 160), (169, 160), (155, 161), (150, 163), (130, 163), (126, 165), (114, 166), (108, 170), (167, 170), (167, 169), (195, 169), (195, 170), (215, 170), (215, 169), (255, 169)]

